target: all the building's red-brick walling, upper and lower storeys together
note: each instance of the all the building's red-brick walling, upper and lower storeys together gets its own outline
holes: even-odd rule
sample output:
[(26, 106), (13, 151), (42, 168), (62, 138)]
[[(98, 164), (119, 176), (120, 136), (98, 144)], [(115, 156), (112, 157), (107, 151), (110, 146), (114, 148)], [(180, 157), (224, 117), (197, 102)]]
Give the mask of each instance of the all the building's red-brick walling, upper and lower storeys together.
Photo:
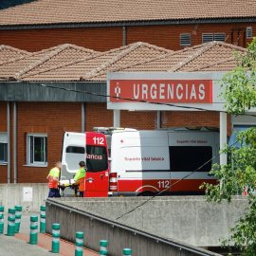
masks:
[[(192, 46), (202, 44), (202, 33), (226, 33), (226, 43), (238, 45), (237, 32), (231, 29), (252, 27), (254, 23), (191, 24), (127, 27), (126, 42), (146, 42), (155, 46), (178, 50), (181, 33), (192, 34)], [(246, 46), (251, 39), (245, 39)], [(244, 46), (244, 35), (239, 36), (239, 46)], [(44, 29), (0, 30), (0, 45), (13, 46), (27, 51), (39, 51), (52, 46), (73, 44), (105, 51), (123, 45), (123, 27), (74, 27)], [(7, 132), (7, 102), (0, 102), (0, 132)], [(11, 103), (11, 183), (13, 180), (13, 103)], [(95, 126), (113, 126), (113, 111), (106, 103), (85, 103), (85, 130)], [(157, 128), (154, 111), (121, 111), (120, 126), (139, 130)], [(219, 114), (215, 112), (163, 111), (161, 127), (213, 126), (219, 127)], [(228, 134), (231, 123), (228, 121)], [(17, 165), (18, 183), (46, 182), (46, 175), (56, 160), (61, 159), (64, 131), (82, 131), (81, 102), (17, 102)], [(27, 166), (27, 133), (47, 134), (47, 167)], [(8, 181), (7, 165), (0, 165), (0, 183)]]

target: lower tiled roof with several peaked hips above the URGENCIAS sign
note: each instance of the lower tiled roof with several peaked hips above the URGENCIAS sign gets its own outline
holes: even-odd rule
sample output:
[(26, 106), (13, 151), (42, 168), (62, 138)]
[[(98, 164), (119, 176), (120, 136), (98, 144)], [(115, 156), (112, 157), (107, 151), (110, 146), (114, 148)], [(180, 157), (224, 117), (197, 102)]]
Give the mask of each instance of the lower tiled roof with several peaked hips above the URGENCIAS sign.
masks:
[(231, 71), (236, 67), (233, 53), (247, 53), (246, 48), (222, 42), (175, 52), (142, 42), (105, 52), (72, 45), (34, 53), (16, 51), (25, 55), (0, 64), (0, 77), (27, 82), (105, 82), (108, 72)]

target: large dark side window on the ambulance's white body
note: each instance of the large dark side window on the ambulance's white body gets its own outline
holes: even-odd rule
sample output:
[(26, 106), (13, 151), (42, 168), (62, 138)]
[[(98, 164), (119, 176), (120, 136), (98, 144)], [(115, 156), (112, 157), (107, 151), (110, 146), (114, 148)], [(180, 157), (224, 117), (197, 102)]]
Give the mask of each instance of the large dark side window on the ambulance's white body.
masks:
[(171, 172), (210, 172), (212, 148), (210, 146), (174, 146), (170, 147)]

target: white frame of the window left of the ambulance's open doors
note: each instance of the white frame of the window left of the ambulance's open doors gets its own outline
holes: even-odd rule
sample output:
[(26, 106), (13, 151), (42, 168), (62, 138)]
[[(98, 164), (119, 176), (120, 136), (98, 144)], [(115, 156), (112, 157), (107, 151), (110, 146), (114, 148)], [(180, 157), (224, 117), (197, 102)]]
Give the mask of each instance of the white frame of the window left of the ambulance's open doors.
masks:
[[(35, 137), (43, 137), (43, 161), (35, 161)], [(32, 139), (32, 140), (31, 140)], [(31, 152), (32, 151), (32, 152)], [(31, 155), (32, 154), (32, 155)], [(27, 133), (27, 165), (47, 167), (47, 134)]]

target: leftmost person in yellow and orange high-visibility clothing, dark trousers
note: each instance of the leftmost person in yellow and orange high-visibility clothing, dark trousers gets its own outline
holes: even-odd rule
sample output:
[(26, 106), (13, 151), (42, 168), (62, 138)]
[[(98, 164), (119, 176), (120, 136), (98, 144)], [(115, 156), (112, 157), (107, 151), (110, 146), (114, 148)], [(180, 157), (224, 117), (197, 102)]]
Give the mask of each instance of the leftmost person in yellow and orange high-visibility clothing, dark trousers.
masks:
[(58, 185), (60, 184), (59, 178), (60, 178), (61, 169), (62, 169), (62, 162), (57, 161), (55, 162), (55, 167), (52, 168), (49, 174), (46, 176), (46, 179), (48, 180), (48, 188), (49, 188), (48, 197), (61, 197), (61, 194), (58, 188)]

